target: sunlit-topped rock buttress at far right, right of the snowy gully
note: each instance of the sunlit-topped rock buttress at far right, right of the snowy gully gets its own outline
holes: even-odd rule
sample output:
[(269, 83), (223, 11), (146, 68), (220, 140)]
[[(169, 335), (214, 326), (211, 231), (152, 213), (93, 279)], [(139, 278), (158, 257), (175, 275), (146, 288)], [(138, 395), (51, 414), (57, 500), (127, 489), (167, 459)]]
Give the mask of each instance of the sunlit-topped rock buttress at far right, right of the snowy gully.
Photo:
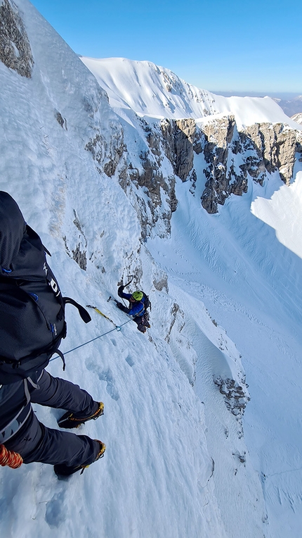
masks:
[(217, 213), (231, 194), (247, 192), (248, 177), (263, 184), (268, 174), (279, 171), (289, 184), (296, 158), (301, 160), (302, 135), (282, 123), (257, 123), (237, 132), (235, 118), (213, 120), (202, 128), (206, 142), (205, 189), (202, 206)]

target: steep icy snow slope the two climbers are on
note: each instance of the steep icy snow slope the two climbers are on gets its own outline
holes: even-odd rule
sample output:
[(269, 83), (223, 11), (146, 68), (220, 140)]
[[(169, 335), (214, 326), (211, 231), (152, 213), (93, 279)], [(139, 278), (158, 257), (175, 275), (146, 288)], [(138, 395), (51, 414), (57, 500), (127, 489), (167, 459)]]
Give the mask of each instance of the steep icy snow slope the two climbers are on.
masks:
[[(110, 332), (112, 325), (98, 314), (86, 326), (67, 311), (63, 351), (104, 336), (66, 354), (65, 373), (59, 360), (49, 370), (103, 399), (104, 417), (79, 433), (102, 439), (107, 453), (68, 484), (39, 463), (2, 469), (1, 534), (227, 537), (211, 480), (204, 404), (163, 337), (173, 297), (152, 285), (162, 273), (139, 244), (136, 211), (118, 181), (100, 175), (85, 150), (96, 123), (109, 142), (118, 119), (79, 58), (27, 0), (16, 4), (35, 63), (32, 79), (0, 64), (0, 188), (15, 197), (47, 244), (63, 294), (96, 304), (122, 325), (128, 318), (107, 297), (116, 293), (126, 268), (134, 273), (143, 266), (140, 285), (149, 290), (154, 321), (148, 338), (132, 323)], [(86, 272), (68, 255), (78, 244), (86, 245)], [(218, 338), (220, 330), (212, 335), (214, 349)], [(190, 357), (188, 351), (188, 363)], [(37, 406), (37, 415), (55, 427), (60, 411)], [(253, 530), (261, 526), (258, 518), (247, 521)]]

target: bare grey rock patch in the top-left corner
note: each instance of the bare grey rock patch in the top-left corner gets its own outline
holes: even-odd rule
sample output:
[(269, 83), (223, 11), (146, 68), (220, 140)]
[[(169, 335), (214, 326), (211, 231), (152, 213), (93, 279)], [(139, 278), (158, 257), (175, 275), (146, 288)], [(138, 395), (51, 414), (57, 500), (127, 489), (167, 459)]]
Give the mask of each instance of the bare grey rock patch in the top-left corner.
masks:
[(22, 77), (32, 76), (34, 58), (25, 26), (8, 0), (0, 6), (0, 60)]

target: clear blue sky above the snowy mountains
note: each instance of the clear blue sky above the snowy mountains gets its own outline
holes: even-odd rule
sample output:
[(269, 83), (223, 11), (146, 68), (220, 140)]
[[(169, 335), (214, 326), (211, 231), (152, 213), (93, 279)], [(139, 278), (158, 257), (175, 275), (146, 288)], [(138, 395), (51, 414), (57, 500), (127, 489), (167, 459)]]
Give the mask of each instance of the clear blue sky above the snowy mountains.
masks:
[(212, 91), (302, 94), (296, 0), (34, 0), (77, 54), (149, 60)]

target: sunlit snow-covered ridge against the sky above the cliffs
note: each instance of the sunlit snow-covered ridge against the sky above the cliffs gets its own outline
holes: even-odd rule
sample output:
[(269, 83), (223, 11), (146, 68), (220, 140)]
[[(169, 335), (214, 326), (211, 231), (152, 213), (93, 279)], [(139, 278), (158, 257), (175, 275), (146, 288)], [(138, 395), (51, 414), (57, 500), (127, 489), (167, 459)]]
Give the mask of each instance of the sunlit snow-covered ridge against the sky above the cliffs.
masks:
[(235, 115), (239, 128), (254, 123), (287, 123), (300, 129), (270, 97), (223, 97), (199, 89), (171, 70), (148, 61), (81, 57), (96, 76), (113, 108), (130, 108), (157, 118), (206, 118)]

